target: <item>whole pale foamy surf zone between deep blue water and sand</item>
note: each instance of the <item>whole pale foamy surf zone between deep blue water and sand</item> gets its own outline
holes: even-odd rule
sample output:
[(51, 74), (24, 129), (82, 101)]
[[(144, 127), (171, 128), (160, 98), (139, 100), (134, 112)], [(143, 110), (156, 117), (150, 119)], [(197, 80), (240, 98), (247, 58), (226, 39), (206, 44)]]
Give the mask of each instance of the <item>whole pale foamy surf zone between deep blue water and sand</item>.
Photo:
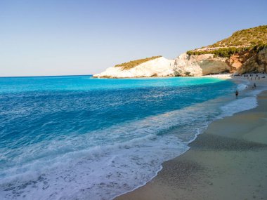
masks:
[(29, 145), (20, 154), (0, 149), (18, 154), (1, 168), (0, 199), (112, 199), (155, 177), (162, 163), (188, 150), (211, 121), (256, 107), (260, 92), (227, 104), (210, 100), (105, 130), (61, 136)]

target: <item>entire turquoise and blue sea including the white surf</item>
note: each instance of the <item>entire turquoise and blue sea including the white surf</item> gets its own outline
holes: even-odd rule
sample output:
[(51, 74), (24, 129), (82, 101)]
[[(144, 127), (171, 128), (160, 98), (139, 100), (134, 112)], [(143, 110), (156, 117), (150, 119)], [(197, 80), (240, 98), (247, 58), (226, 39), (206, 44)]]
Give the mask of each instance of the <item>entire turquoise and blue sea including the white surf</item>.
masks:
[(209, 77), (0, 78), (0, 199), (112, 199), (140, 187), (211, 121), (256, 107), (245, 88)]

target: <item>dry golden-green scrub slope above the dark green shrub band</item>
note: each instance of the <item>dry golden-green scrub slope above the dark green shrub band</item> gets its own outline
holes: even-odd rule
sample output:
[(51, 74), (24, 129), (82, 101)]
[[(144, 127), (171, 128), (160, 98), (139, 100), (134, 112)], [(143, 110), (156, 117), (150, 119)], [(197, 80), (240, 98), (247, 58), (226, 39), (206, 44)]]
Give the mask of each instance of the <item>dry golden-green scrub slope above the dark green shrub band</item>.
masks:
[(243, 29), (234, 32), (232, 36), (207, 46), (228, 47), (228, 46), (255, 46), (267, 43), (267, 25)]

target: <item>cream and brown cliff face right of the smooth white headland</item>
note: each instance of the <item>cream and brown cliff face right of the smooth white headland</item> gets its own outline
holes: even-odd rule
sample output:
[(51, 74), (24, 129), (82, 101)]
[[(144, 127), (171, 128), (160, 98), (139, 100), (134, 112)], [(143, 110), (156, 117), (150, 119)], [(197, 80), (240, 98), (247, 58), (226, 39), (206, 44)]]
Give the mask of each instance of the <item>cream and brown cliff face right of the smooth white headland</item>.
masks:
[(202, 76), (221, 72), (267, 73), (267, 48), (263, 48), (259, 53), (242, 51), (233, 54), (230, 58), (215, 58), (213, 54), (188, 55), (183, 53), (174, 61), (175, 76)]

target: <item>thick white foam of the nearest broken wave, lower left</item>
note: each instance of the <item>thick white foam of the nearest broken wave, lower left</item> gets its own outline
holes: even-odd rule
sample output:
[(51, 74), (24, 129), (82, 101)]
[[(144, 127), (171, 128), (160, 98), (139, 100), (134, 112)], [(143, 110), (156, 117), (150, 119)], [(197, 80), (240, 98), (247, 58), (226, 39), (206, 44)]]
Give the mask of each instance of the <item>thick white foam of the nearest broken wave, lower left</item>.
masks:
[[(147, 135), (117, 145), (94, 147), (13, 168), (1, 179), (1, 199), (111, 199), (143, 185), (161, 164), (188, 149), (176, 136)], [(54, 162), (54, 163), (53, 163)], [(53, 163), (53, 164), (52, 164)], [(38, 168), (39, 167), (39, 168)], [(6, 171), (8, 173), (8, 171)]]

